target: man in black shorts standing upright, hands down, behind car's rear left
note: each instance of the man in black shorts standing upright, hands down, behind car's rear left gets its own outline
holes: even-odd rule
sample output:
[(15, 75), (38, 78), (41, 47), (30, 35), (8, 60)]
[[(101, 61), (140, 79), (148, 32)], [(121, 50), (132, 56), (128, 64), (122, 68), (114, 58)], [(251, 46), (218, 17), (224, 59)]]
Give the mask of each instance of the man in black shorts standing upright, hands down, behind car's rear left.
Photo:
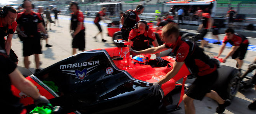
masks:
[(27, 69), (29, 68), (30, 61), (28, 57), (34, 54), (36, 63), (35, 72), (37, 72), (40, 70), (39, 54), (42, 54), (38, 29), (45, 34), (46, 38), (48, 38), (48, 35), (42, 24), (43, 19), (39, 13), (32, 11), (33, 5), (31, 3), (30, 0), (24, 0), (22, 6), (25, 10), (18, 13), (16, 18), (18, 26), (16, 30), (23, 37), (24, 65)]

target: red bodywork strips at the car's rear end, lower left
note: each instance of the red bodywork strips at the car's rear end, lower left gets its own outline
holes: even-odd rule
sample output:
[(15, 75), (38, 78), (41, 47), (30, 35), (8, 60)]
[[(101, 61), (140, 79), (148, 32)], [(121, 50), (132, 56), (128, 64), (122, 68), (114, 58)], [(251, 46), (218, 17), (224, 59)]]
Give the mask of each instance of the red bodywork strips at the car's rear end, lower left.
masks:
[[(36, 81), (34, 81), (32, 78), (30, 78), (30, 76), (26, 77), (26, 79), (31, 81), (36, 86), (36, 88), (38, 89), (38, 91), (41, 95), (43, 95), (47, 99), (54, 98), (54, 96), (50, 92), (48, 92), (46, 89), (44, 89), (40, 84), (36, 83)], [(25, 93), (20, 92), (20, 90), (18, 90), (13, 85), (11, 85), (11, 91), (13, 92), (13, 95), (20, 98), (20, 103), (22, 103), (23, 105), (27, 106), (27, 105), (34, 104), (34, 100), (30, 96), (26, 95)]]

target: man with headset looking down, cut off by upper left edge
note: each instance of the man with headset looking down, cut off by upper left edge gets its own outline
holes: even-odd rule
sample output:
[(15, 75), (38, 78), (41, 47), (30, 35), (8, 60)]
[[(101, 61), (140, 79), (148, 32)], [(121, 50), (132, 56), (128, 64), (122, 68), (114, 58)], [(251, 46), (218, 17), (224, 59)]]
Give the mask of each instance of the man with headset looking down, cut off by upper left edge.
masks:
[[(16, 17), (17, 11), (11, 6), (4, 6), (0, 11), (0, 47), (5, 49), (10, 59), (18, 64), (18, 57), (11, 49), (11, 40), (17, 27)], [(7, 36), (7, 40), (5, 40), (5, 36)]]

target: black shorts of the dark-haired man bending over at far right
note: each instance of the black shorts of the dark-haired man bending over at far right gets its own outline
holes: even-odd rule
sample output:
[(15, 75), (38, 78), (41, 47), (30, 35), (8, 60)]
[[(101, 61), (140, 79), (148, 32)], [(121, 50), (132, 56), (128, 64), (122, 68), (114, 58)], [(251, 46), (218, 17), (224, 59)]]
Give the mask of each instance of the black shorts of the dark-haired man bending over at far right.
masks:
[(245, 58), (248, 46), (249, 44), (241, 44), (241, 46), (231, 56), (232, 59), (236, 59), (237, 57), (239, 57), (240, 60), (243, 60)]

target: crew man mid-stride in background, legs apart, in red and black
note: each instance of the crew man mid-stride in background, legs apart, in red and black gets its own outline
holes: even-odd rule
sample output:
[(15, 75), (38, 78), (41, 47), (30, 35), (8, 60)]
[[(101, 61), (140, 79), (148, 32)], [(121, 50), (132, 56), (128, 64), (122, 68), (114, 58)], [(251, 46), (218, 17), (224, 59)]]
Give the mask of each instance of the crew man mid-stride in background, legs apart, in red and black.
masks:
[(107, 8), (103, 7), (103, 8), (101, 8), (101, 11), (98, 12), (98, 14), (97, 14), (96, 17), (95, 17), (94, 23), (95, 23), (95, 25), (98, 27), (98, 30), (100, 31), (100, 32), (98, 32), (98, 33), (94, 36), (94, 39), (95, 39), (96, 41), (97, 41), (96, 36), (99, 35), (99, 34), (101, 34), (101, 38), (102, 38), (101, 41), (103, 41), (103, 42), (106, 42), (106, 41), (107, 41), (107, 40), (103, 39), (102, 29), (101, 29), (101, 27), (100, 27), (100, 24), (98, 24), (98, 23), (100, 22), (100, 20), (103, 20), (105, 23), (107, 23), (107, 22), (104, 20), (103, 17), (105, 17), (105, 18), (107, 18), (108, 20), (111, 20), (111, 21), (112, 21), (112, 19), (110, 19), (110, 18), (108, 18), (107, 16), (105, 16), (105, 15), (106, 15), (106, 14), (105, 14), (106, 12), (107, 12)]

